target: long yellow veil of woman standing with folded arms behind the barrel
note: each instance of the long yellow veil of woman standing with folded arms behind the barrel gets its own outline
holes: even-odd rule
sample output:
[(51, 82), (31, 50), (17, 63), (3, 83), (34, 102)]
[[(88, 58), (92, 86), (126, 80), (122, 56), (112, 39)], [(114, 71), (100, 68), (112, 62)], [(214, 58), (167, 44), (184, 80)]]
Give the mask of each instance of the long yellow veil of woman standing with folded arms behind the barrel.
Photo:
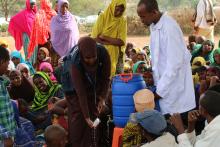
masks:
[[(99, 15), (98, 20), (93, 26), (91, 37), (97, 38), (98, 35), (108, 36), (111, 38), (121, 39), (126, 43), (127, 38), (127, 20), (124, 17), (125, 12), (120, 17), (114, 16), (115, 7), (124, 5), (126, 9), (126, 0), (112, 0), (108, 8)], [(115, 75), (116, 65), (119, 57), (119, 47), (113, 45), (105, 45), (111, 58), (111, 76)], [(125, 46), (121, 47), (121, 51), (125, 52)]]

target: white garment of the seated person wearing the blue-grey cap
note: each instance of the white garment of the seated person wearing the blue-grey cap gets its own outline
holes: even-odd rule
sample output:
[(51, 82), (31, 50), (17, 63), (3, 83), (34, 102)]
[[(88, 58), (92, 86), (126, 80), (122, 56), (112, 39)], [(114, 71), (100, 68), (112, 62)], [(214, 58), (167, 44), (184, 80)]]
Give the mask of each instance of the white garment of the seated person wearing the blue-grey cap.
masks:
[(144, 144), (141, 147), (177, 147), (175, 138), (170, 133), (166, 133), (163, 136), (158, 137), (156, 140)]

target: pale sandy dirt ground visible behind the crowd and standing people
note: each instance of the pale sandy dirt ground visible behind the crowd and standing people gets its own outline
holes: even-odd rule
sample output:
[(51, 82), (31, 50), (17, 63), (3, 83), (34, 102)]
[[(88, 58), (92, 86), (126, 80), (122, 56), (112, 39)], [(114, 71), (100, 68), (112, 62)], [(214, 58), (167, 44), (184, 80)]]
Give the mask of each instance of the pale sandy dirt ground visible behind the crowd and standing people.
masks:
[[(82, 34), (81, 36), (85, 36), (86, 34)], [(187, 40), (187, 37), (185, 37)], [(12, 37), (0, 37), (0, 40), (4, 39), (8, 42), (9, 44), (9, 49), (11, 51), (15, 50), (15, 45), (14, 45), (14, 39)], [(127, 42), (132, 42), (135, 44), (136, 48), (143, 48), (145, 45), (149, 44), (149, 36), (128, 36)], [(215, 37), (215, 45), (216, 48), (218, 47), (218, 41), (220, 39), (220, 36)]]

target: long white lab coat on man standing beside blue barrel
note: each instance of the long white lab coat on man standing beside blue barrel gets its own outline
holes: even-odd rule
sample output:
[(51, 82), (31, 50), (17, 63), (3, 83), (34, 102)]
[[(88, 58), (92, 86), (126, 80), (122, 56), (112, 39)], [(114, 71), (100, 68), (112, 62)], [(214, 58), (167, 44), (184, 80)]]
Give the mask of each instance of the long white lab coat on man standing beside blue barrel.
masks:
[(191, 54), (176, 21), (163, 14), (150, 26), (151, 61), (163, 114), (183, 113), (195, 108)]

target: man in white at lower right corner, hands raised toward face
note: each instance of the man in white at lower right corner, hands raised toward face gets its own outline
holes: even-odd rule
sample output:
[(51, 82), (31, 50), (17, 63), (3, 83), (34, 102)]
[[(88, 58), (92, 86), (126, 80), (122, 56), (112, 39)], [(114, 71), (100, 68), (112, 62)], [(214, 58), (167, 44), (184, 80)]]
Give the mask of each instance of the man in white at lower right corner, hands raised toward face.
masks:
[[(178, 147), (219, 147), (220, 142), (220, 93), (208, 90), (200, 98), (199, 111), (189, 112), (188, 129), (184, 126), (179, 114), (171, 116), (171, 123), (177, 128), (179, 136)], [(196, 136), (195, 126), (199, 118), (204, 117), (207, 126), (199, 136)]]

